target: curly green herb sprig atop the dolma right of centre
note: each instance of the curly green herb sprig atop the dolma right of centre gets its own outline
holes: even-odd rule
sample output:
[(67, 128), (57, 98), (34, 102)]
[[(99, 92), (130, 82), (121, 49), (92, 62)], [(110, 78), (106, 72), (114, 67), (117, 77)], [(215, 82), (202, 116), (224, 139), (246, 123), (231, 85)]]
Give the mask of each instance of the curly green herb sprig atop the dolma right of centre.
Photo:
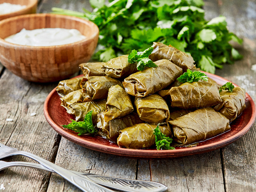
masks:
[(177, 80), (182, 83), (192, 83), (192, 82), (198, 82), (200, 79), (207, 81), (208, 77), (206, 74), (200, 72), (200, 71), (191, 71), (187, 69), (187, 72), (185, 72), (183, 75), (181, 75)]

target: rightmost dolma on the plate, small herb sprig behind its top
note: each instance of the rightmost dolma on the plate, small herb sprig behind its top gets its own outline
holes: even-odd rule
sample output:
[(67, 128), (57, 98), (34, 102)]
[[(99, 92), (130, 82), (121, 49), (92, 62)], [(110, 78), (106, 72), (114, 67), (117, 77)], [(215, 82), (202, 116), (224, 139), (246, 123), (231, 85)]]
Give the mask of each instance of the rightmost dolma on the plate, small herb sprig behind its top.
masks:
[(232, 92), (222, 90), (222, 102), (214, 106), (214, 110), (221, 112), (229, 121), (234, 121), (245, 109), (245, 90), (235, 87)]

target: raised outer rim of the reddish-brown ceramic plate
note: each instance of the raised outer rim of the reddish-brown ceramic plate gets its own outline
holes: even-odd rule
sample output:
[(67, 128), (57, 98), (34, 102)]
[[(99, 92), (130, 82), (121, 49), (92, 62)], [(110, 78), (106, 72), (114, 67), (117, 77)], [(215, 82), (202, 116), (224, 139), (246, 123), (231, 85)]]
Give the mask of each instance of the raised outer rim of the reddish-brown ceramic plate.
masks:
[[(225, 78), (222, 78), (221, 76), (210, 74), (208, 72), (204, 72), (204, 73), (207, 76), (209, 76), (210, 78), (213, 76), (222, 81), (231, 82)], [(82, 75), (79, 75), (79, 76), (82, 76)], [(231, 83), (233, 83), (233, 82), (231, 82)], [(234, 84), (234, 83), (233, 83), (233, 85), (237, 86), (237, 84)], [(57, 125), (54, 122), (54, 120), (50, 117), (50, 114), (48, 112), (48, 103), (49, 103), (50, 99), (52, 98), (52, 95), (55, 92), (56, 92), (56, 87), (49, 93), (49, 95), (47, 96), (47, 98), (45, 100), (44, 115), (45, 115), (46, 121), (50, 124), (50, 126), (57, 133), (59, 133), (61, 136), (68, 139), (69, 141), (76, 143), (80, 146), (89, 148), (91, 150), (108, 153), (108, 154), (113, 154), (113, 155), (118, 155), (118, 156), (122, 156), (122, 157), (142, 158), (142, 159), (176, 158), (176, 157), (184, 157), (184, 156), (188, 156), (188, 155), (206, 153), (208, 151), (217, 150), (221, 147), (227, 146), (230, 143), (233, 143), (234, 141), (236, 141), (237, 139), (239, 139), (243, 135), (245, 135), (245, 133), (248, 132), (249, 129), (252, 127), (252, 125), (255, 121), (255, 118), (256, 118), (255, 104), (253, 102), (253, 99), (250, 97), (250, 95), (248, 93), (246, 93), (247, 101), (249, 101), (249, 104), (251, 105), (252, 116), (251, 116), (249, 122), (245, 125), (244, 128), (242, 128), (241, 131), (239, 131), (238, 133), (236, 133), (226, 139), (223, 139), (221, 141), (214, 142), (214, 143), (209, 143), (209, 144), (206, 144), (203, 146), (196, 146), (196, 147), (191, 147), (191, 148), (181, 148), (178, 150), (158, 150), (158, 151), (156, 151), (156, 150), (147, 150), (147, 149), (141, 150), (141, 149), (128, 149), (128, 148), (121, 148), (121, 147), (117, 148), (117, 147), (113, 147), (113, 146), (106, 146), (106, 145), (100, 144), (100, 143), (94, 143), (94, 142), (88, 141), (83, 138), (78, 138), (78, 136), (74, 136), (71, 133), (67, 132), (65, 129), (59, 127), (59, 125)], [(225, 134), (225, 133), (223, 133), (223, 134)]]

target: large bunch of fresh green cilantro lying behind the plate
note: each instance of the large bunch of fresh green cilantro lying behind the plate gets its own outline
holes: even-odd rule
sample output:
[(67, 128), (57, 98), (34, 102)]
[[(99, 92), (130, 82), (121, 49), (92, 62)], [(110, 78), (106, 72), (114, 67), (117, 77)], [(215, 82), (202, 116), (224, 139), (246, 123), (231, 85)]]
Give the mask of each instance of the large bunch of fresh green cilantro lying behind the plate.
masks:
[(93, 12), (53, 8), (94, 22), (100, 31), (94, 59), (108, 61), (133, 49), (143, 51), (162, 42), (191, 54), (196, 67), (215, 72), (223, 63), (241, 59), (230, 40), (242, 40), (227, 30), (226, 18), (204, 19), (203, 0), (90, 0)]

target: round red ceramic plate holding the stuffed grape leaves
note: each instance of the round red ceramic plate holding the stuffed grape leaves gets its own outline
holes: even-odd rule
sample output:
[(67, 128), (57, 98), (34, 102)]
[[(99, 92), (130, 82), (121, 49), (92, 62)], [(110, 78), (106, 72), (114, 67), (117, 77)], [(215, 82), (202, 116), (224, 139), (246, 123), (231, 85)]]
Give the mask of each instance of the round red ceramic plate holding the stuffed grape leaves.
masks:
[[(214, 79), (218, 84), (225, 84), (228, 80), (217, 75), (206, 73), (206, 75)], [(233, 83), (234, 84), (234, 83)], [(234, 84), (234, 86), (237, 86)], [(204, 153), (224, 147), (235, 140), (241, 138), (252, 126), (255, 121), (255, 105), (252, 98), (246, 93), (246, 108), (242, 114), (234, 120), (230, 126), (231, 130), (218, 135), (214, 138), (200, 142), (196, 147), (186, 148), (177, 147), (176, 150), (156, 150), (156, 149), (127, 149), (118, 147), (116, 143), (111, 143), (107, 139), (100, 136), (78, 136), (74, 131), (63, 129), (61, 125), (70, 123), (70, 119), (74, 116), (68, 114), (66, 110), (60, 106), (60, 97), (54, 89), (50, 92), (44, 103), (44, 114), (48, 123), (52, 128), (64, 138), (79, 144), (80, 146), (90, 148), (92, 150), (124, 156), (132, 158), (174, 158), (187, 155)]]

